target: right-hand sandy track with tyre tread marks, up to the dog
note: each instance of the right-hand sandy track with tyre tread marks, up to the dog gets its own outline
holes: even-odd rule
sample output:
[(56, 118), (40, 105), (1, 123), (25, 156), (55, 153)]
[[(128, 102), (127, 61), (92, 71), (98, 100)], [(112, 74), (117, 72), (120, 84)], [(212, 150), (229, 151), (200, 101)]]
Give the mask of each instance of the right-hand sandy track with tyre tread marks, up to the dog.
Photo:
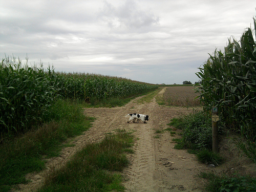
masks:
[[(137, 126), (129, 123), (125, 128), (134, 129), (138, 138), (134, 146), (135, 154), (130, 156), (131, 165), (124, 170), (125, 191), (201, 191), (195, 186), (194, 175), (202, 166), (186, 151), (173, 149), (174, 143), (171, 143), (169, 132), (155, 138), (156, 130), (167, 129), (171, 118), (191, 113), (193, 109), (159, 106), (153, 99), (134, 110), (149, 115), (150, 121)], [(171, 160), (175, 161), (176, 167), (172, 166)], [(188, 162), (187, 167), (183, 165), (185, 161)]]

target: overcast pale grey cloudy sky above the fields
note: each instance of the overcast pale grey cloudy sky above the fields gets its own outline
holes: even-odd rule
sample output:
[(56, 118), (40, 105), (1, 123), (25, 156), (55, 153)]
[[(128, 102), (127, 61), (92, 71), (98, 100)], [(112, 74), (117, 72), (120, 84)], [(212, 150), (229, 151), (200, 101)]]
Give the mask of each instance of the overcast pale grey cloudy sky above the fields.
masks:
[(255, 8), (255, 0), (0, 0), (0, 59), (194, 83), (209, 54), (253, 28)]

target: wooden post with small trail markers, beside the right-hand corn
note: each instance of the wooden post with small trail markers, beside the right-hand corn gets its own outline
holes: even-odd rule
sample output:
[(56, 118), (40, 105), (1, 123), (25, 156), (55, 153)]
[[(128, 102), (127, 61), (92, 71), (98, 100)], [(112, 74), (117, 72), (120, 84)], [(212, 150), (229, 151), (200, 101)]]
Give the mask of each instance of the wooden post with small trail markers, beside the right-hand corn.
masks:
[(219, 152), (219, 145), (218, 145), (218, 108), (212, 108), (212, 115), (211, 115), (211, 126), (212, 126), (212, 152), (218, 153)]

